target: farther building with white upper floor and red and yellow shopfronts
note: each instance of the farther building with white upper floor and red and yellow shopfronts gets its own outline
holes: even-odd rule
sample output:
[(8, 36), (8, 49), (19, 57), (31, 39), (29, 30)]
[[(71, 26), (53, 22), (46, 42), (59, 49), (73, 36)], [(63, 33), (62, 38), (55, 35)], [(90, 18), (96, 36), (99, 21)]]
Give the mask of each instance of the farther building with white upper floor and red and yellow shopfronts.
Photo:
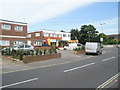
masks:
[[(40, 33), (41, 36), (38, 37), (37, 39), (39, 39), (41, 41), (41, 43), (48, 44), (51, 46), (61, 46), (62, 47), (63, 45), (66, 44), (66, 42), (68, 40), (71, 40), (71, 33), (58, 32), (58, 31), (52, 31), (52, 30), (38, 30), (38, 31), (34, 31), (34, 32), (29, 32), (28, 36), (31, 36), (34, 34), (33, 35), (33, 37), (34, 37), (36, 33)], [(32, 37), (32, 39), (33, 39), (33, 37)], [(31, 41), (31, 43), (32, 43), (32, 41)]]

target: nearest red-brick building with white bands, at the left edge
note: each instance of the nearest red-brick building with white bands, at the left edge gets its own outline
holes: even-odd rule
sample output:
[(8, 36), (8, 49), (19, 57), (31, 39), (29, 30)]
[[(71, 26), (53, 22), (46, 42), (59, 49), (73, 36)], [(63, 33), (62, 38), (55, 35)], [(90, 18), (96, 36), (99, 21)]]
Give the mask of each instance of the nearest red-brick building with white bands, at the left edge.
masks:
[(0, 45), (2, 47), (27, 43), (27, 23), (0, 19)]

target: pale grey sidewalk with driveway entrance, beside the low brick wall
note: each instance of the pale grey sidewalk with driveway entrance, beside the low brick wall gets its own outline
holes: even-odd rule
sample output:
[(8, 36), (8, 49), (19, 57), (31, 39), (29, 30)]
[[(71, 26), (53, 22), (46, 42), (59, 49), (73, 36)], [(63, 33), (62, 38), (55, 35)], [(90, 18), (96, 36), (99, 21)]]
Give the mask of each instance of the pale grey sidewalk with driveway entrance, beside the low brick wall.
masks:
[(23, 70), (29, 70), (29, 69), (34, 69), (34, 68), (43, 68), (43, 67), (55, 66), (55, 65), (74, 62), (76, 60), (80, 61), (80, 60), (83, 60), (83, 59), (90, 57), (90, 56), (86, 56), (84, 54), (75, 55), (75, 54), (73, 54), (72, 51), (68, 51), (68, 50), (59, 50), (58, 53), (62, 54), (61, 58), (32, 62), (32, 63), (28, 63), (28, 64), (4, 59), (4, 60), (2, 60), (2, 72), (3, 73), (10, 73), (10, 72), (23, 71)]

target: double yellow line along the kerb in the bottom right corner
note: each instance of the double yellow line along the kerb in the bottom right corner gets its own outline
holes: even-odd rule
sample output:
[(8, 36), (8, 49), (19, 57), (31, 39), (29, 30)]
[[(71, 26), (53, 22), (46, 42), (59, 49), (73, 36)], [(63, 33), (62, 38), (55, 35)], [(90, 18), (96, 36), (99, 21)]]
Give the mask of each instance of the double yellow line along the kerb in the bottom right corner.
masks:
[(109, 83), (111, 83), (113, 80), (115, 80), (116, 78), (118, 78), (119, 75), (120, 75), (120, 72), (117, 73), (116, 75), (114, 75), (112, 78), (108, 79), (106, 82), (104, 82), (100, 86), (98, 86), (96, 88), (96, 90), (101, 90), (102, 88), (104, 88), (105, 86), (107, 86)]

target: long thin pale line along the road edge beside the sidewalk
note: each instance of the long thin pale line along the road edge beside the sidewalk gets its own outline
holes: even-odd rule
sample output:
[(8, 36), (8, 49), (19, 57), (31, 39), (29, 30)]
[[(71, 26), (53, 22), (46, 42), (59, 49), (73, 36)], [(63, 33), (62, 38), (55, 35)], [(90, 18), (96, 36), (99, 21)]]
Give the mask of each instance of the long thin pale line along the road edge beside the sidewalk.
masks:
[[(88, 58), (90, 58), (90, 57), (87, 57), (87, 58), (85, 58), (85, 59), (88, 59)], [(82, 59), (82, 60), (84, 60), (84, 59)], [(48, 65), (38, 66), (38, 67), (33, 67), (33, 68), (24, 68), (24, 69), (19, 69), (19, 70), (2, 72), (2, 73), (0, 73), (0, 74), (6, 74), (6, 73), (12, 73), (12, 72), (19, 72), (19, 71), (26, 71), (26, 70), (33, 70), (33, 69), (37, 69), (37, 68), (45, 68), (45, 67), (51, 67), (51, 66), (56, 66), (56, 65), (63, 65), (63, 64), (72, 63), (72, 62), (77, 62), (77, 61), (82, 61), (82, 60), (65, 61), (65, 62), (58, 63), (58, 64), (48, 64)]]

